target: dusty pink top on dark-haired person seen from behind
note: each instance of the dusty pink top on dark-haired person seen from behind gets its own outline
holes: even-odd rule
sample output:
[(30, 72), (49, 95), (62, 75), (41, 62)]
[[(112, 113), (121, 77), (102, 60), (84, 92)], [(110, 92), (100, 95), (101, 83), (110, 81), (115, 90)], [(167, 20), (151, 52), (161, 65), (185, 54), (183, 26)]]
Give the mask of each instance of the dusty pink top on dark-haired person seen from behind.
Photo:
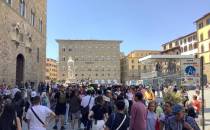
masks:
[(147, 109), (142, 102), (134, 102), (131, 108), (130, 130), (146, 130)]

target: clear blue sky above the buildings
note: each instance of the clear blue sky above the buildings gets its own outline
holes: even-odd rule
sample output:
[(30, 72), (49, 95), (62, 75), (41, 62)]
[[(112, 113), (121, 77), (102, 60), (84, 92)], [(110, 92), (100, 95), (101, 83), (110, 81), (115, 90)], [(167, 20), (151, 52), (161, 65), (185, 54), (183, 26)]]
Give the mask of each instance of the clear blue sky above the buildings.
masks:
[(55, 39), (122, 40), (125, 54), (160, 50), (208, 12), (210, 0), (48, 0), (47, 57), (58, 58)]

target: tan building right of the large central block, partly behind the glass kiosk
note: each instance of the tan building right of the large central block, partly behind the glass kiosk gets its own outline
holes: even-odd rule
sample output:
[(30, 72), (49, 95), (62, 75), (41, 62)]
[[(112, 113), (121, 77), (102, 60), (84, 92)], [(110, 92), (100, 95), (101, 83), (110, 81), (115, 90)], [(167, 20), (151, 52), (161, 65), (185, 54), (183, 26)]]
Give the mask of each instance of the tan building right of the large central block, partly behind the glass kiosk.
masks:
[(153, 50), (136, 50), (121, 58), (121, 82), (130, 84), (131, 81), (141, 79), (141, 64), (138, 62), (140, 58), (160, 54), (160, 51)]

